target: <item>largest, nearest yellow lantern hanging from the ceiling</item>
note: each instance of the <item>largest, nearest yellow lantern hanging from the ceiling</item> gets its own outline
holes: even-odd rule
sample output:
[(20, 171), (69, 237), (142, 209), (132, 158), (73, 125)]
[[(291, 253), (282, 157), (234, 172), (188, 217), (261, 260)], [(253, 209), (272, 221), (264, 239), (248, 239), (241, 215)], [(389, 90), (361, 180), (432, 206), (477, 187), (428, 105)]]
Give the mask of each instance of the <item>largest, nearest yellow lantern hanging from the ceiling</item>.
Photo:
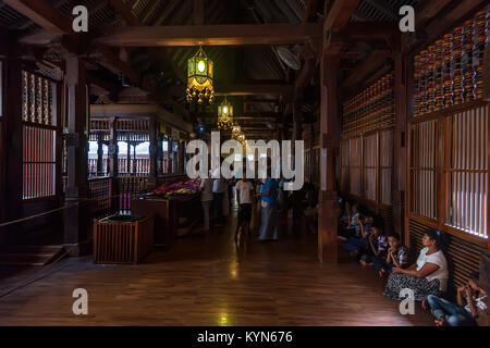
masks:
[(212, 87), (213, 63), (206, 55), (203, 47), (187, 62), (187, 101), (197, 100), (199, 104), (205, 101), (212, 103), (215, 88)]

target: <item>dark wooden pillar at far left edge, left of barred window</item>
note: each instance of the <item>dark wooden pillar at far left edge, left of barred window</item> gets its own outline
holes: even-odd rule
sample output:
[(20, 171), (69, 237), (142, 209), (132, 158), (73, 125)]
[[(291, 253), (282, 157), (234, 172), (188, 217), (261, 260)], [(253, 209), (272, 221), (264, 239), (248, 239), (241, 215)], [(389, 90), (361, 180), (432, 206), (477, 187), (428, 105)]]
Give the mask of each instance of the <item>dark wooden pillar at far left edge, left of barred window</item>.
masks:
[[(5, 135), (5, 220), (12, 221), (23, 216), (23, 134), (22, 134), (22, 61), (16, 57), (7, 60), (7, 91), (4, 115)], [(8, 202), (8, 204), (7, 204)], [(11, 225), (4, 229), (7, 243), (15, 243), (22, 236), (22, 225)]]

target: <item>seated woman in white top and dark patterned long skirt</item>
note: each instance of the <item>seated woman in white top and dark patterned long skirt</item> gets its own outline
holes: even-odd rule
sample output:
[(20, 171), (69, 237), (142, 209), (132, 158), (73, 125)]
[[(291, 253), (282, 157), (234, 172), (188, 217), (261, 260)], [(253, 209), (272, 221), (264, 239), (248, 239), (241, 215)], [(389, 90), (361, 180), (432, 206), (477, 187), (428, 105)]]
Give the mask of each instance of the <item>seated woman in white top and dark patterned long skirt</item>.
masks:
[(429, 295), (441, 296), (446, 290), (448, 261), (442, 252), (442, 236), (439, 231), (426, 231), (421, 239), (424, 249), (417, 262), (404, 270), (393, 268), (388, 278), (384, 296), (402, 300), (400, 293), (405, 289), (414, 291), (415, 300), (421, 301)]

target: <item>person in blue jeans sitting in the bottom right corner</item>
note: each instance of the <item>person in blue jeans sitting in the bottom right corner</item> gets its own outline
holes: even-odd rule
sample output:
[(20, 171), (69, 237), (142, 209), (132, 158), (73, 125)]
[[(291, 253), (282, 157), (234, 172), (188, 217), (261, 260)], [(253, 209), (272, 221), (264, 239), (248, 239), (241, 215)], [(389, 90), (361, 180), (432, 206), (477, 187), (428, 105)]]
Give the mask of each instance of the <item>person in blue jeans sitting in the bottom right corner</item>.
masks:
[(479, 273), (471, 274), (468, 283), (457, 288), (457, 303), (429, 295), (422, 307), (430, 307), (438, 326), (476, 326), (488, 309), (488, 296), (478, 283)]

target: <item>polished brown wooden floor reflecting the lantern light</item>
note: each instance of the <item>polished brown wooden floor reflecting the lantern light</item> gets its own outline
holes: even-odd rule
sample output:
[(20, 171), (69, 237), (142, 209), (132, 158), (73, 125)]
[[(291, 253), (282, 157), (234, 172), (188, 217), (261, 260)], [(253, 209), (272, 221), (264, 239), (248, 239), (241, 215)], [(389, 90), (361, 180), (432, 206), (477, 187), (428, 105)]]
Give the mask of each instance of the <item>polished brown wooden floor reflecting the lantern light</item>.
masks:
[[(287, 223), (285, 223), (287, 222)], [(280, 241), (250, 240), (236, 250), (236, 219), (208, 235), (181, 238), (142, 264), (96, 265), (68, 259), (48, 269), (0, 269), (1, 325), (431, 325), (427, 313), (403, 316), (384, 298), (372, 269), (320, 264), (316, 236), (284, 219)], [(38, 272), (41, 272), (38, 274)], [(85, 288), (89, 314), (72, 312)]]

